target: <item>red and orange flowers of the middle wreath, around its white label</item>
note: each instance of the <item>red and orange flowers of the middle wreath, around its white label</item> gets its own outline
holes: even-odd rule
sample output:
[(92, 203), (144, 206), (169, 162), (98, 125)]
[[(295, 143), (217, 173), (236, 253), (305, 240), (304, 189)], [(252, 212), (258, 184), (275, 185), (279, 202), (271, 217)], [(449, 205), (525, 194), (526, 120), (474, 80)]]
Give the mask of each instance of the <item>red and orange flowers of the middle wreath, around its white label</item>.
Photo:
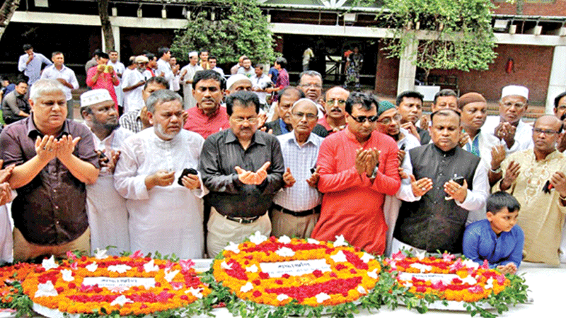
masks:
[[(330, 270), (316, 269), (291, 276), (270, 277), (262, 263), (324, 260)], [(379, 280), (381, 266), (373, 256), (337, 242), (262, 237), (231, 244), (213, 264), (214, 278), (242, 300), (283, 306), (293, 300), (299, 305), (330, 306), (352, 302), (369, 293)]]

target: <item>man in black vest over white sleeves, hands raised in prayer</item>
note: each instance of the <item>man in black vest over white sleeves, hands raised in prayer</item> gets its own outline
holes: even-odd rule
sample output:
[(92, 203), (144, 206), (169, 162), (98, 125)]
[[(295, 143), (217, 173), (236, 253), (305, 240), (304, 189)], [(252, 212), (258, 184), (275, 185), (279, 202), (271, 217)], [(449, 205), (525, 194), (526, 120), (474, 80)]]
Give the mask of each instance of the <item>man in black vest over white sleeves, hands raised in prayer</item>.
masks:
[(409, 178), (397, 193), (404, 202), (393, 232), (393, 253), (402, 247), (461, 253), (468, 211), (483, 208), (489, 194), (480, 158), (458, 146), (460, 114), (439, 110), (431, 121), (433, 143), (411, 149), (403, 162)]

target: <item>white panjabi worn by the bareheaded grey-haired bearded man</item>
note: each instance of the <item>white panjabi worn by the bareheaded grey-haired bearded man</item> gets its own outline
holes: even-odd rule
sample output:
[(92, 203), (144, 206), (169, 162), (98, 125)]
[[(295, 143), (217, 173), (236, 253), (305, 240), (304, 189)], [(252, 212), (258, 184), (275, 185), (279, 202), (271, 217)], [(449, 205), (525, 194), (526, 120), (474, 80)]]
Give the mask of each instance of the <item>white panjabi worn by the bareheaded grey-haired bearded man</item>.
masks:
[[(185, 129), (171, 141), (164, 141), (154, 128), (140, 131), (123, 143), (114, 185), (127, 199), (133, 251), (175, 253), (181, 259), (202, 257), (202, 197), (207, 190), (204, 186), (189, 190), (177, 183), (183, 169), (197, 169), (202, 143), (202, 136)], [(145, 179), (158, 170), (175, 171), (175, 182), (148, 191)]]

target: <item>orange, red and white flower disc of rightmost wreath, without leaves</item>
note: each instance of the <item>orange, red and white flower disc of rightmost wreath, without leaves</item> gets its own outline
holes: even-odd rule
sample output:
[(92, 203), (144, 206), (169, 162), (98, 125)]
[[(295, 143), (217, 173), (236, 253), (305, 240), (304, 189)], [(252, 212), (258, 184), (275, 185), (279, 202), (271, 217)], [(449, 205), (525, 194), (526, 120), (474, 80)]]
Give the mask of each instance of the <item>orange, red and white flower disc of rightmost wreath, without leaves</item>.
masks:
[[(441, 300), (476, 302), (487, 298), (491, 293), (497, 295), (510, 285), (509, 279), (495, 269), (490, 269), (487, 261), (479, 265), (471, 260), (457, 259), (454, 255), (443, 254), (437, 257), (406, 257), (402, 252), (385, 259), (391, 266), (390, 271), (397, 271), (398, 283), (408, 287), (409, 293), (423, 298), (424, 295), (437, 295)], [(403, 276), (403, 273), (415, 273)], [(419, 273), (454, 274), (448, 280), (422, 279)], [(403, 276), (403, 278), (402, 278)], [(437, 276), (438, 277), (438, 276)], [(452, 277), (450, 279), (450, 277)]]

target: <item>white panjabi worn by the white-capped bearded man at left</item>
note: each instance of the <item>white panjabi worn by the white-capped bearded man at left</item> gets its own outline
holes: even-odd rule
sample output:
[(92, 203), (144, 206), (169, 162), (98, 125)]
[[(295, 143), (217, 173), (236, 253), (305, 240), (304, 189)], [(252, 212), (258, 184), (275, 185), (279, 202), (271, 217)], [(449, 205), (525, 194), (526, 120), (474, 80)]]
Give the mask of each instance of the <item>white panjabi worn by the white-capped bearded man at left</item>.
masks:
[[(104, 140), (93, 134), (96, 150), (103, 151), (107, 158), (112, 158), (110, 151), (120, 149), (132, 131), (119, 127)], [(104, 249), (108, 245), (108, 254), (119, 255), (129, 251), (128, 213), (126, 200), (114, 189), (114, 176), (103, 167), (95, 184), (86, 186), (86, 211), (88, 226), (91, 227), (91, 253), (97, 248)]]

